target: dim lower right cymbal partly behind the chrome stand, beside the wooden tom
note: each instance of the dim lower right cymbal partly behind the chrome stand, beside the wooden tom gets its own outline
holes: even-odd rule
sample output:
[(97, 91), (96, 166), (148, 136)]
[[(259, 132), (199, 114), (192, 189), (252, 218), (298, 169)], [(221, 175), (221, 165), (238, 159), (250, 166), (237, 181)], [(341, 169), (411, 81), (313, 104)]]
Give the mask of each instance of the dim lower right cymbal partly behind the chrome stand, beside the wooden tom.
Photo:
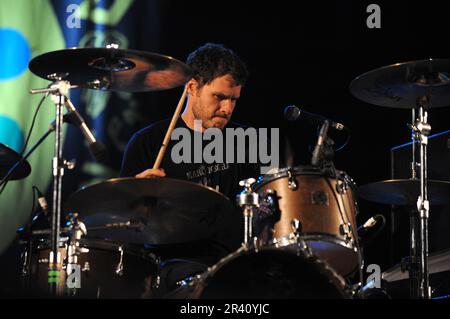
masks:
[[(390, 205), (416, 205), (420, 180), (393, 179), (358, 187), (358, 195), (368, 201)], [(431, 205), (450, 203), (450, 182), (428, 180)]]

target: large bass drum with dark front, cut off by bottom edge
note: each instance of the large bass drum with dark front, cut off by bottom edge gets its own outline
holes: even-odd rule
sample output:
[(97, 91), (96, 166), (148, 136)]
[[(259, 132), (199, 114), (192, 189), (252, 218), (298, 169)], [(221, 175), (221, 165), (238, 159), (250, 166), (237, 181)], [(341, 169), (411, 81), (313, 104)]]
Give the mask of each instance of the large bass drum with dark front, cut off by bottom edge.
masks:
[(277, 248), (243, 248), (184, 280), (170, 299), (347, 299), (342, 277), (317, 257)]

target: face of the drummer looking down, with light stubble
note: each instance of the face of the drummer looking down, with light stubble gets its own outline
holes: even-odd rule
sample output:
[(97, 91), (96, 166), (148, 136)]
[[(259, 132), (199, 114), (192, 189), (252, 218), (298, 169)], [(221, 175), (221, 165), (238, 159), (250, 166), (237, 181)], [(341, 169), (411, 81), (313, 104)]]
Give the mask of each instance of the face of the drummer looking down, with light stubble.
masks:
[(195, 119), (202, 121), (203, 129), (217, 127), (223, 129), (230, 121), (236, 101), (241, 95), (241, 85), (236, 85), (233, 77), (224, 75), (211, 83), (199, 87), (194, 81), (190, 94)]

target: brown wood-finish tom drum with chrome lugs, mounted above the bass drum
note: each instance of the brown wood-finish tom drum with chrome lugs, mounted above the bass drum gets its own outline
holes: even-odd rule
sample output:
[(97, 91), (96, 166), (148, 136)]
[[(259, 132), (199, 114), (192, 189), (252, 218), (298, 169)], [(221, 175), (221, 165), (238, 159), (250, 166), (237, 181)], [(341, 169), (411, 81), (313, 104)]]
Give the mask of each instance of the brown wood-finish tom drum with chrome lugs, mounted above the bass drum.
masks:
[[(357, 267), (357, 203), (354, 183), (345, 173), (331, 177), (310, 167), (280, 169), (260, 177), (253, 190), (261, 198), (273, 191), (278, 197), (279, 215), (266, 232), (256, 234), (262, 244), (297, 246), (300, 235), (339, 274), (348, 275)], [(261, 223), (256, 216), (258, 220)], [(258, 224), (254, 228), (264, 229)]]

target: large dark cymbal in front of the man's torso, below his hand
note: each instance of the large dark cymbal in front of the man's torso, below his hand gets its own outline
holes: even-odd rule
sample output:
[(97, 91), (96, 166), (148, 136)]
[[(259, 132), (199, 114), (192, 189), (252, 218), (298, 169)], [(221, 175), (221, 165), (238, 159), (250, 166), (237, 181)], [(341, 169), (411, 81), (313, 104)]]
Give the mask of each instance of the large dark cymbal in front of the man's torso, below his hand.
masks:
[[(176, 244), (211, 237), (240, 220), (233, 203), (212, 188), (172, 178), (115, 178), (72, 194), (66, 212), (86, 227), (128, 223), (134, 229), (89, 231), (88, 236), (136, 244)], [(136, 225), (141, 227), (136, 227)]]

